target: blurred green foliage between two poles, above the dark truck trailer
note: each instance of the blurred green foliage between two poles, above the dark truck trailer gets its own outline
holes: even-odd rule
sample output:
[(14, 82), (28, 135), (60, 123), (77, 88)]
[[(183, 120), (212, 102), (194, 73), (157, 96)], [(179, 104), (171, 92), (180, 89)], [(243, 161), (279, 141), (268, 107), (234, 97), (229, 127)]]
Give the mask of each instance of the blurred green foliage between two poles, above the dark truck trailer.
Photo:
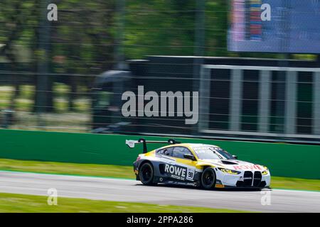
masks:
[(193, 55), (195, 0), (128, 0), (125, 54)]

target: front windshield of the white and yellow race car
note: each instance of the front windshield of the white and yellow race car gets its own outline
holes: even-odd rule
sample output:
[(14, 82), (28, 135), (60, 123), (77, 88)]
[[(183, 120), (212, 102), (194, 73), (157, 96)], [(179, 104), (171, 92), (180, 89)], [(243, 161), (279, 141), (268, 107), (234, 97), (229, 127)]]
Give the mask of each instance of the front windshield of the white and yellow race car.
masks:
[(200, 159), (220, 159), (220, 160), (234, 160), (233, 155), (227, 151), (213, 146), (203, 145), (193, 148), (194, 152)]

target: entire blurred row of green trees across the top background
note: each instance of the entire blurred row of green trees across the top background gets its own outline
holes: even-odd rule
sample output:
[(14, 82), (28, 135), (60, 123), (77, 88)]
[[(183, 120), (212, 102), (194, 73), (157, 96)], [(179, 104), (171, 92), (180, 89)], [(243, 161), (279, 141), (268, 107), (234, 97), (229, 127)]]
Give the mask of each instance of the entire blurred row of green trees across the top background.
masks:
[[(115, 50), (119, 45), (117, 28), (120, 24), (124, 24), (126, 59), (145, 55), (194, 54), (196, 0), (125, 0), (123, 14), (117, 8), (117, 0), (53, 0), (50, 3), (58, 6), (58, 21), (50, 22), (50, 39), (47, 41), (42, 40), (46, 35), (41, 35), (46, 28), (43, 27), (43, 20), (47, 20), (43, 14), (47, 11), (45, 5), (41, 4), (43, 2), (48, 1), (0, 1), (0, 55), (11, 62), (11, 79), (16, 87), (11, 106), (14, 106), (19, 91), (19, 79), (14, 74), (19, 65), (14, 54), (15, 45), (31, 50), (31, 62), (28, 65), (31, 72), (38, 72), (39, 65), (48, 62), (48, 84), (38, 84), (40, 87), (36, 88), (38, 91), (47, 91), (48, 99), (44, 106), (53, 106), (52, 82), (63, 82), (70, 85), (70, 110), (75, 108), (74, 100), (79, 85), (85, 85), (89, 90), (94, 79), (76, 77), (76, 74), (100, 74), (116, 65)], [(261, 56), (227, 51), (228, 11), (228, 1), (206, 1), (205, 55)], [(122, 15), (124, 18), (121, 20), (119, 17)], [(269, 54), (267, 57), (277, 55)], [(38, 99), (36, 106), (37, 103)]]

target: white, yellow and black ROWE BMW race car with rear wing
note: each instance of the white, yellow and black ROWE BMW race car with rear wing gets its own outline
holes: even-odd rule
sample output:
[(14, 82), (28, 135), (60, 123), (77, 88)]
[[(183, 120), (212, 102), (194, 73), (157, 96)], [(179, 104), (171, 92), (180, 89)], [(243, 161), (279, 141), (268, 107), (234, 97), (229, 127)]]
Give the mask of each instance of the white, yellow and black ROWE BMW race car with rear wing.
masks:
[[(176, 140), (126, 140), (129, 148), (143, 144), (143, 154), (134, 162), (134, 173), (142, 184), (192, 184), (204, 189), (270, 187), (267, 167), (237, 160), (215, 145), (180, 143)], [(169, 143), (147, 152), (146, 143)]]

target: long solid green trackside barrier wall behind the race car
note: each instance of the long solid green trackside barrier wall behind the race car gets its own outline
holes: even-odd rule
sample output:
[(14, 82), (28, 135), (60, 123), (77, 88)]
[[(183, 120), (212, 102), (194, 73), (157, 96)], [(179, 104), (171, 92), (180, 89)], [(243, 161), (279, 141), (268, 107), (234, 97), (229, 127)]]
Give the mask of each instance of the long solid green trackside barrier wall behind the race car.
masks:
[[(103, 135), (87, 133), (53, 133), (43, 131), (0, 130), (0, 158), (42, 160), (53, 162), (132, 165), (142, 145), (129, 149), (126, 139), (137, 140), (135, 135)], [(167, 140), (145, 136), (147, 140)], [(218, 145), (240, 160), (269, 167), (272, 175), (320, 179), (320, 146), (281, 143), (178, 138), (186, 143)], [(148, 150), (158, 148), (150, 144)]]

